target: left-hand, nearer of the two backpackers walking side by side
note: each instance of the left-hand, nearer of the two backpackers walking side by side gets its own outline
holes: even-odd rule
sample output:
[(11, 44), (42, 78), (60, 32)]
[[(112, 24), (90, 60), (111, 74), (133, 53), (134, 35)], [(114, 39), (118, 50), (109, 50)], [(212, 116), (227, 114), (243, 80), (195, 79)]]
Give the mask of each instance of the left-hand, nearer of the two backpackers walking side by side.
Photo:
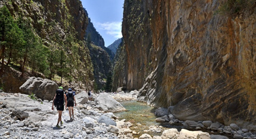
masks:
[[(54, 110), (54, 106), (56, 106), (58, 111), (58, 122), (56, 127), (60, 127), (60, 125), (63, 124), (63, 121), (61, 120), (62, 111), (64, 110), (64, 101), (65, 106), (67, 108), (67, 98), (64, 94), (63, 87), (58, 87), (58, 90), (56, 90), (56, 94), (54, 96), (54, 100), (52, 100), (52, 110)], [(58, 125), (60, 123), (60, 125)]]

